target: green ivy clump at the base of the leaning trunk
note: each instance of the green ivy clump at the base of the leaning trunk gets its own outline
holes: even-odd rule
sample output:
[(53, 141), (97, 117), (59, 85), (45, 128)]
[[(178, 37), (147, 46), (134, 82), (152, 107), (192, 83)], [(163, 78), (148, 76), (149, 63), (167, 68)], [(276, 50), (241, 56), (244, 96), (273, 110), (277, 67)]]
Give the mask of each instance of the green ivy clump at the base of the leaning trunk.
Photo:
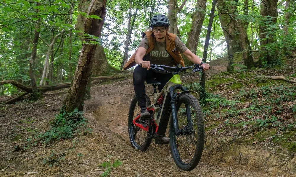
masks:
[(81, 133), (90, 133), (91, 129), (86, 127), (86, 119), (83, 117), (83, 112), (74, 109), (73, 112), (65, 113), (61, 112), (52, 121), (51, 128), (40, 133), (38, 137), (44, 143), (49, 143), (55, 140), (73, 138), (75, 135)]

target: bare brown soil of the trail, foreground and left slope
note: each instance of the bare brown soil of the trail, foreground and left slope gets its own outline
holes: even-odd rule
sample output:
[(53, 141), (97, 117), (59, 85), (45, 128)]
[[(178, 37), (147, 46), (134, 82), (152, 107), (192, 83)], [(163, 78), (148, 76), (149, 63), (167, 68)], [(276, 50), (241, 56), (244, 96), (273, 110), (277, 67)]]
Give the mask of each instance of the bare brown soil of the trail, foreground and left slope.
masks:
[[(151, 94), (151, 91), (147, 86), (147, 93)], [(169, 145), (156, 145), (152, 142), (146, 152), (132, 148), (127, 131), (128, 109), (134, 96), (131, 73), (123, 81), (91, 88), (91, 99), (85, 101), (84, 105), (84, 116), (93, 129), (91, 134), (34, 146), (30, 136), (35, 131), (49, 128), (50, 121), (59, 113), (66, 93), (67, 89), (46, 92), (44, 99), (40, 101), (1, 105), (0, 176), (101, 176), (107, 168), (100, 164), (108, 161), (113, 163), (118, 159), (123, 164), (111, 168), (110, 176), (295, 176), (289, 171), (276, 171), (275, 167), (266, 168), (265, 164), (258, 164), (261, 161), (256, 161), (256, 158), (254, 163), (260, 166), (257, 169), (239, 163), (244, 159), (236, 162), (237, 157), (231, 158), (232, 151), (227, 151), (223, 157), (219, 153), (223, 149), (210, 149), (215, 146), (210, 146), (209, 143), (219, 143), (210, 135), (200, 163), (190, 172), (182, 171), (176, 166)], [(239, 148), (243, 148), (241, 151), (245, 148), (250, 156), (266, 153), (260, 147)], [(222, 160), (226, 155), (230, 161), (233, 160), (232, 163)]]

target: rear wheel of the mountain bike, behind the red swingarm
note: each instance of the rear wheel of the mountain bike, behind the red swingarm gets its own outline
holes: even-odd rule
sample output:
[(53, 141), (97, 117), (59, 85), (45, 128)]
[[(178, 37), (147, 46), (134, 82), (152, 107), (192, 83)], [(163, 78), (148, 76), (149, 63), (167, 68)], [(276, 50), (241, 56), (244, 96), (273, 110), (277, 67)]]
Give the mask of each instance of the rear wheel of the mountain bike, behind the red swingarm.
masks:
[[(146, 106), (149, 106), (150, 104), (151, 101), (149, 97), (146, 95)], [(149, 145), (151, 144), (153, 127), (150, 126), (150, 130), (148, 132), (139, 127), (136, 127), (133, 124), (133, 120), (139, 114), (141, 114), (141, 109), (138, 106), (137, 97), (134, 96), (133, 100), (131, 101), (130, 109), (128, 112), (128, 135), (131, 141), (131, 145), (134, 148), (139, 149), (141, 151), (146, 151), (149, 148)], [(137, 122), (149, 126), (151, 120), (138, 119)]]

